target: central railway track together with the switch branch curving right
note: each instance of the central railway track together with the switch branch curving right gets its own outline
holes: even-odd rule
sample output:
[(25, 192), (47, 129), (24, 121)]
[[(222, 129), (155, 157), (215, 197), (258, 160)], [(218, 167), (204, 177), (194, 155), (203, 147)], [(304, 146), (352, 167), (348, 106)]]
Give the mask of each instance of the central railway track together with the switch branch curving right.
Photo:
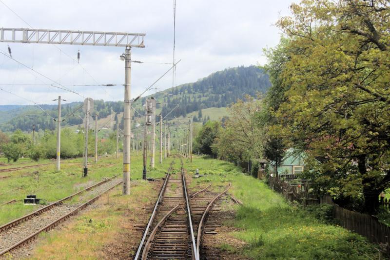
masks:
[[(174, 161), (168, 170), (150, 220), (138, 246), (135, 260), (187, 259), (200, 260), (202, 237), (212, 233), (216, 225), (208, 220), (211, 208), (230, 188), (208, 191), (211, 185), (188, 195), (183, 162), (180, 174), (171, 174)], [(195, 230), (195, 232), (194, 232)], [(195, 241), (196, 238), (196, 241)]]

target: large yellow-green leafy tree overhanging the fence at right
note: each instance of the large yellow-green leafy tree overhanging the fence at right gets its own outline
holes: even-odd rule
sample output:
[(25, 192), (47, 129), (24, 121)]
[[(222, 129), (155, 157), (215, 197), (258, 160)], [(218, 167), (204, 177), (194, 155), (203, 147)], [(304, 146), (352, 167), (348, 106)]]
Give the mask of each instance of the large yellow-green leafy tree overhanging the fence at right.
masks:
[(291, 11), (277, 22), (290, 57), (275, 70), (273, 133), (308, 153), (318, 187), (340, 201), (363, 194), (373, 214), (390, 185), (390, 3), (303, 0)]

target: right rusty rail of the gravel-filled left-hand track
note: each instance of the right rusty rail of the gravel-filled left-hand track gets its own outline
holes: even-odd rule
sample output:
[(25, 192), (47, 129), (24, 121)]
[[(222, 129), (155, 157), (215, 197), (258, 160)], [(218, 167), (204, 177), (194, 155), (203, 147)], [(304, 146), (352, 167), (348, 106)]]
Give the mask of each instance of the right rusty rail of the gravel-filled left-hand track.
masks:
[(16, 247), (24, 244), (25, 242), (28, 242), (30, 240), (33, 240), (34, 238), (36, 238), (40, 233), (44, 232), (44, 231), (49, 231), (51, 230), (52, 228), (54, 228), (56, 225), (58, 225), (59, 223), (61, 223), (62, 221), (66, 220), (67, 218), (77, 214), (79, 211), (81, 211), (82, 209), (84, 209), (85, 207), (87, 207), (88, 205), (94, 203), (96, 200), (98, 200), (103, 194), (105, 194), (106, 192), (112, 190), (113, 188), (115, 188), (116, 186), (118, 186), (119, 184), (121, 184), (122, 181), (120, 181), (119, 183), (115, 184), (114, 186), (112, 186), (111, 188), (109, 188), (108, 190), (100, 193), (98, 196), (94, 197), (93, 199), (91, 200), (88, 200), (87, 202), (85, 202), (84, 204), (80, 205), (78, 208), (74, 209), (73, 211), (71, 211), (70, 213), (60, 217), (59, 219), (57, 220), (54, 220), (53, 222), (51, 222), (50, 224), (46, 225), (45, 227), (39, 229), (37, 232), (35, 232), (34, 234), (28, 236), (27, 238), (15, 243), (14, 245), (8, 247), (7, 249), (3, 250), (2, 252), (0, 252), (0, 256), (4, 255), (5, 253), (8, 253), (9, 251), (11, 251), (12, 249), (15, 249)]

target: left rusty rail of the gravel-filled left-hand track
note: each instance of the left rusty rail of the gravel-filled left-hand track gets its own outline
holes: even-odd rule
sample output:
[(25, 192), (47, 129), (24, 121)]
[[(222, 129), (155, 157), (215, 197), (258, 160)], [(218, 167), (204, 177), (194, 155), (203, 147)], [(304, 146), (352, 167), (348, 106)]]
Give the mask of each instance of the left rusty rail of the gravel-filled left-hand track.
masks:
[(34, 211), (34, 212), (31, 212), (31, 213), (29, 213), (29, 214), (27, 214), (27, 215), (25, 215), (25, 216), (23, 216), (23, 217), (20, 217), (19, 219), (12, 220), (12, 221), (10, 221), (10, 222), (8, 222), (8, 223), (6, 223), (6, 224), (0, 226), (0, 232), (2, 232), (2, 231), (4, 231), (4, 230), (7, 230), (8, 228), (11, 228), (11, 227), (13, 227), (13, 226), (16, 226), (16, 225), (20, 224), (21, 222), (24, 222), (24, 221), (26, 221), (26, 220), (29, 220), (29, 219), (31, 219), (31, 218), (34, 217), (34, 216), (40, 215), (40, 214), (42, 214), (44, 211), (49, 210), (49, 209), (51, 209), (52, 207), (55, 207), (55, 206), (57, 206), (58, 204), (62, 203), (64, 200), (72, 199), (73, 197), (77, 196), (78, 194), (80, 194), (80, 193), (82, 193), (82, 192), (85, 192), (85, 191), (88, 191), (88, 190), (90, 190), (90, 189), (93, 189), (93, 188), (95, 188), (95, 187), (97, 187), (97, 186), (100, 186), (101, 184), (103, 184), (103, 183), (105, 183), (105, 182), (107, 182), (107, 181), (109, 181), (109, 180), (112, 180), (112, 179), (116, 178), (117, 176), (119, 176), (119, 174), (118, 174), (118, 175), (115, 175), (115, 176), (113, 176), (113, 177), (111, 177), (111, 178), (108, 178), (108, 179), (106, 179), (106, 180), (100, 181), (100, 182), (98, 182), (98, 183), (96, 183), (96, 184), (94, 184), (94, 185), (92, 185), (92, 186), (89, 186), (89, 187), (86, 188), (86, 189), (83, 189), (83, 190), (81, 190), (81, 191), (78, 191), (78, 192), (76, 192), (76, 193), (74, 193), (74, 194), (72, 194), (72, 195), (70, 195), (70, 196), (68, 196), (68, 197), (66, 197), (66, 198), (63, 198), (63, 199), (61, 199), (61, 200), (57, 200), (56, 202), (53, 202), (53, 203), (51, 203), (51, 204), (49, 204), (49, 205), (47, 205), (47, 206), (44, 206), (43, 208), (40, 208), (40, 209), (38, 209), (38, 210), (36, 210), (36, 211)]

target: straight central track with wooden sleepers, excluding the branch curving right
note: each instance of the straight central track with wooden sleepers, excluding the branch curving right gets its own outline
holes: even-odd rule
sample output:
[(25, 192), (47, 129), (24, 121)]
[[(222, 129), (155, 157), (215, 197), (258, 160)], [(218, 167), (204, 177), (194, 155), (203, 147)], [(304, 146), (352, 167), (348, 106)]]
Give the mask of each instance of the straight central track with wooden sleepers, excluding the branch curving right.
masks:
[(172, 174), (174, 160), (162, 185), (135, 259), (195, 259), (195, 236), (183, 164)]

